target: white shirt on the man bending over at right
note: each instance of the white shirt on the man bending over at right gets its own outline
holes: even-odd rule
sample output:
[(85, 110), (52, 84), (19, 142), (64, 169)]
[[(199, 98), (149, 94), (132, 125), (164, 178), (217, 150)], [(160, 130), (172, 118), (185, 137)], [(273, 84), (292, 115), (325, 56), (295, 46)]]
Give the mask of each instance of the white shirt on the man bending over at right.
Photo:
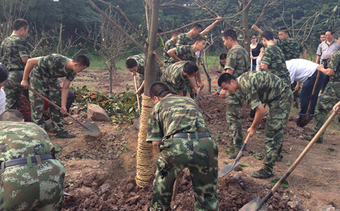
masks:
[(286, 65), (290, 71), (291, 83), (294, 81), (305, 82), (318, 68), (318, 64), (306, 59), (290, 59), (286, 61)]

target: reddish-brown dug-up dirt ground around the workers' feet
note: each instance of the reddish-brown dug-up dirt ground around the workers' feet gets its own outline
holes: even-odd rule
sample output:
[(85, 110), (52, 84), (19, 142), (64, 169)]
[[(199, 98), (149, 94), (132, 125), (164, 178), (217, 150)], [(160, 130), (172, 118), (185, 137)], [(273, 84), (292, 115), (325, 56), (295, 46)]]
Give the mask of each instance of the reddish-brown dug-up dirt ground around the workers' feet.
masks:
[[(210, 75), (215, 81), (219, 73), (210, 70)], [(90, 90), (108, 93), (108, 78), (107, 71), (86, 70), (79, 73), (73, 86), (87, 85)], [(114, 75), (114, 93), (123, 91), (126, 83), (133, 87), (130, 74), (118, 70)], [(208, 85), (203, 89), (200, 101), (212, 115), (212, 119), (205, 115), (204, 117), (219, 147), (219, 168), (223, 168), (226, 162), (233, 162), (226, 154), (231, 146), (231, 133), (224, 115), (226, 101), (208, 93), (207, 87)], [(217, 85), (212, 83), (212, 91), (216, 89)], [(250, 109), (245, 106), (241, 113), (244, 134), (252, 122), (249, 112)], [(297, 109), (292, 109), (283, 142), (285, 153), (283, 160), (276, 163), (276, 175), (266, 180), (250, 177), (250, 173), (262, 165), (261, 159), (257, 157), (264, 153), (264, 120), (240, 159), (249, 167), (238, 168), (219, 179), (217, 191), (220, 210), (238, 210), (253, 198), (265, 196), (272, 188), (269, 182), (281, 177), (290, 163), (297, 159), (308, 145), (308, 141), (301, 138), (301, 135), (311, 133), (313, 122), (301, 129), (292, 120), (296, 114)], [(76, 117), (90, 121), (86, 113)], [(72, 121), (69, 117), (66, 120)], [(53, 143), (63, 147), (60, 157), (67, 170), (64, 191), (72, 194), (65, 196), (62, 210), (148, 210), (152, 196), (152, 178), (147, 187), (140, 188), (135, 183), (137, 129), (131, 125), (104, 122), (95, 124), (102, 130), (99, 138), (81, 133), (81, 126), (75, 122), (66, 125), (66, 129), (76, 133), (76, 138), (65, 140), (51, 136)], [(321, 210), (327, 205), (339, 209), (339, 152), (339, 123), (336, 119), (327, 129), (324, 143), (314, 145), (287, 178), (290, 186), (280, 188), (268, 201), (268, 210)], [(193, 210), (190, 176), (184, 171), (181, 178), (177, 198), (172, 205), (176, 207), (174, 210)]]

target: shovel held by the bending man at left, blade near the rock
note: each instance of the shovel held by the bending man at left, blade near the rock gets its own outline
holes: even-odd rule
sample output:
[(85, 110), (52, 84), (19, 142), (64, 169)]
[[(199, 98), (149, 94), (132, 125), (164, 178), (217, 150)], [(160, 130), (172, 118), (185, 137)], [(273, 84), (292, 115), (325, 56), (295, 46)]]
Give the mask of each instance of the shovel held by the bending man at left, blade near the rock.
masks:
[[(57, 108), (59, 110), (62, 110), (62, 108), (60, 108), (59, 106), (57, 106), (57, 104), (53, 103), (52, 101), (47, 99), (45, 96), (40, 94), (38, 91), (36, 91), (36, 89), (33, 89), (30, 86), (28, 87), (28, 89), (31, 90), (32, 92), (34, 92), (36, 95), (40, 96), (45, 101), (48, 101), (48, 103), (50, 103), (55, 108)], [(74, 119), (74, 121), (76, 121), (78, 124), (81, 125), (81, 127), (82, 127), (81, 132), (86, 133), (86, 134), (88, 134), (90, 136), (99, 136), (100, 135), (101, 131), (100, 131), (99, 127), (96, 124), (92, 124), (90, 122), (85, 122), (83, 124), (82, 122), (79, 121), (79, 119), (76, 119), (76, 118), (72, 117), (72, 115), (70, 115), (68, 112), (66, 114), (67, 114), (67, 116), (71, 117), (72, 119)]]

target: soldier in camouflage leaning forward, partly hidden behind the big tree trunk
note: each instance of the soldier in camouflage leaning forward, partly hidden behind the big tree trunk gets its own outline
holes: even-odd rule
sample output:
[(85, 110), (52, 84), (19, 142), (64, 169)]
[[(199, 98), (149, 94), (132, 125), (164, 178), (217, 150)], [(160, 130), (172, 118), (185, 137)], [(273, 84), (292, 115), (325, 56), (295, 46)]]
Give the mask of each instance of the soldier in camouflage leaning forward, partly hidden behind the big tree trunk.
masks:
[[(136, 94), (142, 94), (144, 92), (144, 71), (147, 59), (145, 54), (137, 54), (132, 57), (128, 57), (125, 61), (125, 67), (131, 72), (132, 77), (138, 73), (138, 85), (139, 88)], [(161, 80), (162, 71), (159, 64), (156, 62), (156, 81)]]

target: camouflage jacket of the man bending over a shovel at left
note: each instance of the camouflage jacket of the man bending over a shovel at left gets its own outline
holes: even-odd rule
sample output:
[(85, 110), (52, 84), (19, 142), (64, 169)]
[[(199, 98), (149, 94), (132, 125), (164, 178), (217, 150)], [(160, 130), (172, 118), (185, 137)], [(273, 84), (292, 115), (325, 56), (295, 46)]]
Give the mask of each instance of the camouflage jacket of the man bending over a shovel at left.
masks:
[(39, 57), (38, 66), (35, 66), (32, 74), (44, 82), (55, 82), (57, 78), (66, 76), (66, 80), (71, 82), (76, 77), (73, 70), (66, 70), (67, 62), (71, 60), (60, 54), (50, 54), (46, 57)]

